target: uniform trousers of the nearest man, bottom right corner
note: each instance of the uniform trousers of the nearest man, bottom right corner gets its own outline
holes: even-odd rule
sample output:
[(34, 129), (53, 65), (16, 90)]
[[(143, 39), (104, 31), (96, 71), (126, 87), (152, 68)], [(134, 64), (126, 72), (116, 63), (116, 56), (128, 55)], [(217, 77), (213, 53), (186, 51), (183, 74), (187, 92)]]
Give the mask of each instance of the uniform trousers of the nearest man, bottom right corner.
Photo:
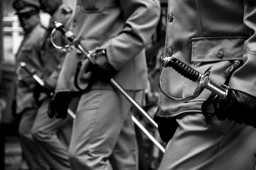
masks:
[[(242, 114), (242, 113), (241, 113)], [(256, 129), (200, 113), (177, 117), (179, 127), (166, 146), (159, 170), (252, 170)]]

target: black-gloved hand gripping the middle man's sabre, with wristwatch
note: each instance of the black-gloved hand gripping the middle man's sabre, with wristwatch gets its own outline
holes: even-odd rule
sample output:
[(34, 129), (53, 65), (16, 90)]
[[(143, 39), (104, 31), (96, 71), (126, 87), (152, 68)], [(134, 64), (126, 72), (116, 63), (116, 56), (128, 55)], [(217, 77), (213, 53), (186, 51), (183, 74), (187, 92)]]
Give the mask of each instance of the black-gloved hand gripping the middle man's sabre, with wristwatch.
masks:
[(92, 73), (95, 80), (102, 80), (108, 82), (117, 73), (116, 69), (108, 62), (108, 57), (105, 49), (97, 49), (91, 53), (92, 59), (95, 64), (90, 63), (86, 73)]

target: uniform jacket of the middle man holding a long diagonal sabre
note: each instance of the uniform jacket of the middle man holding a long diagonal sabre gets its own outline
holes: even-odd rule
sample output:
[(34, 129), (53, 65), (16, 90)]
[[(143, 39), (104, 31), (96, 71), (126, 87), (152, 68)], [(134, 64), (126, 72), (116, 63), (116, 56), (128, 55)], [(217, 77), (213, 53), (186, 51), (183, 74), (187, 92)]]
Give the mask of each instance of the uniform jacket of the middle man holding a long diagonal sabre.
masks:
[[(147, 66), (143, 49), (152, 37), (159, 13), (157, 0), (83, 0), (74, 15), (73, 31), (77, 37), (83, 37), (81, 43), (87, 50), (106, 48), (109, 63), (118, 71), (114, 78), (124, 89), (145, 89)], [(76, 50), (67, 55), (57, 91), (77, 90), (74, 73), (78, 61)], [(81, 87), (86, 82), (85, 75), (81, 71)], [(101, 81), (92, 86), (110, 88)]]

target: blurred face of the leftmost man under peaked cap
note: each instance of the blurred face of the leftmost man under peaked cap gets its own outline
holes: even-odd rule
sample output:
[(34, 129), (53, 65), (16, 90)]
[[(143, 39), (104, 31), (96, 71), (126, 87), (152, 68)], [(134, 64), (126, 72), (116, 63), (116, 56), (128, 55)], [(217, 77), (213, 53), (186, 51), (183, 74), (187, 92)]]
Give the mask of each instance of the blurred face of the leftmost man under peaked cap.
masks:
[(18, 17), (20, 25), (26, 33), (30, 32), (40, 22), (38, 13), (22, 13)]

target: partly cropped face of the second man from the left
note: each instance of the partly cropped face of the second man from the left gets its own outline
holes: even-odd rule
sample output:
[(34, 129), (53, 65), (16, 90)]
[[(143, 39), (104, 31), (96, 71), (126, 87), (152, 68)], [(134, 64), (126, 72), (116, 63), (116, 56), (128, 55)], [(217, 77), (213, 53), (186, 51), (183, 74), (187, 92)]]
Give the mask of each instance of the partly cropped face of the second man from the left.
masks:
[(60, 6), (60, 0), (39, 0), (41, 9), (52, 15)]

